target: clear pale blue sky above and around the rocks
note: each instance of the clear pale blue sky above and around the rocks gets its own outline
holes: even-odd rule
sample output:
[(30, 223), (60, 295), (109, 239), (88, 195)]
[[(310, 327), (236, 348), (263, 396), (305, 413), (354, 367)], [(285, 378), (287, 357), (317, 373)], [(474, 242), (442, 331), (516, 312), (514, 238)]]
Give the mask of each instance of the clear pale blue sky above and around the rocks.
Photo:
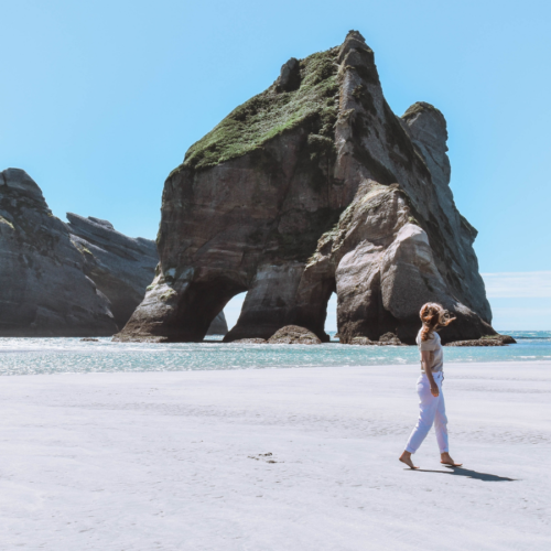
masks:
[[(0, 170), (26, 170), (61, 218), (154, 238), (164, 179), (187, 148), (289, 57), (357, 29), (395, 112), (418, 100), (444, 112), (482, 272), (549, 281), (549, 1), (0, 0)], [(549, 293), (515, 296), (525, 280), (504, 281), (517, 283), (490, 293), (496, 326), (522, 315), (551, 328)]]

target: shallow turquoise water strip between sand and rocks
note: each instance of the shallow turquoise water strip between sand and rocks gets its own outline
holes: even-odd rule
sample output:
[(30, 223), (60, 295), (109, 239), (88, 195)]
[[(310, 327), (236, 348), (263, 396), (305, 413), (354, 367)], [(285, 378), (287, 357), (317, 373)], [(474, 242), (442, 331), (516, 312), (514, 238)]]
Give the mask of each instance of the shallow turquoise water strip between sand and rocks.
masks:
[[(518, 344), (444, 348), (445, 361), (551, 360), (551, 332), (504, 331)], [(212, 338), (212, 337), (210, 337)], [(97, 343), (79, 338), (0, 338), (0, 375), (273, 369), (414, 364), (414, 346)]]

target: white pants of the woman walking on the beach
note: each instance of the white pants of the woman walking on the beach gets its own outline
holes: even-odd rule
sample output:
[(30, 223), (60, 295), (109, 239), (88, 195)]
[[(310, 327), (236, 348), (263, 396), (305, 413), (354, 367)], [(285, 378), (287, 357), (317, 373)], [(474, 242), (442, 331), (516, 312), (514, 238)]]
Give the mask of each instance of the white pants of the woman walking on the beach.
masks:
[(426, 374), (422, 374), (417, 381), (417, 393), (419, 395), (419, 420), (413, 429), (406, 451), (415, 453), (423, 440), (429, 434), (431, 426), (434, 423), (436, 431), (436, 441), (439, 443), (440, 453), (449, 452), (447, 446), (447, 418), (444, 404), (444, 395), (442, 392), (442, 380), (444, 374), (437, 371), (433, 374), (434, 382), (437, 385), (440, 393), (437, 397), (431, 393), (431, 383)]

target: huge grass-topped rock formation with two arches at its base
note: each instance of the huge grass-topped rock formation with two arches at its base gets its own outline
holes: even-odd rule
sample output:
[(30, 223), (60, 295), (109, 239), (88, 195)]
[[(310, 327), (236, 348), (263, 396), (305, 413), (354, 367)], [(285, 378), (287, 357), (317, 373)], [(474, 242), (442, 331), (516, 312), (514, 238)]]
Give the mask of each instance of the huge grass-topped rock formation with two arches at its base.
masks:
[(334, 291), (344, 343), (387, 332), (412, 343), (426, 301), (457, 317), (444, 342), (494, 334), (446, 139), (429, 104), (391, 111), (358, 32), (290, 60), (168, 177), (159, 273), (118, 338), (201, 341), (244, 291), (227, 341), (290, 324), (327, 341)]

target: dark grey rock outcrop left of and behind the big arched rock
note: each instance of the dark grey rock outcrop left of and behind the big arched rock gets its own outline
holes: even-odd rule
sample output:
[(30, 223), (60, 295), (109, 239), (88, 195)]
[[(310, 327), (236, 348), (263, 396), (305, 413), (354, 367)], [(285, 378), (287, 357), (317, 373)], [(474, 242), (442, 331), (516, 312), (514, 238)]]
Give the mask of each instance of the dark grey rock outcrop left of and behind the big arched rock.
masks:
[[(24, 171), (0, 172), (0, 336), (110, 336), (143, 300), (155, 242), (99, 218), (67, 219)], [(208, 334), (227, 332), (220, 312)]]

